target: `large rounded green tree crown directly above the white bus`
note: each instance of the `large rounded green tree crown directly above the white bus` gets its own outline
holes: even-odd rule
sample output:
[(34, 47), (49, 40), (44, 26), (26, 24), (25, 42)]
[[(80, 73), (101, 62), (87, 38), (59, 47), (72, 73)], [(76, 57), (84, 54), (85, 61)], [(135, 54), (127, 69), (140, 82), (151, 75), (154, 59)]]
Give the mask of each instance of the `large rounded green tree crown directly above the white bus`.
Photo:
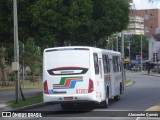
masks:
[(39, 45), (94, 45), (127, 27), (129, 0), (38, 0), (31, 11)]

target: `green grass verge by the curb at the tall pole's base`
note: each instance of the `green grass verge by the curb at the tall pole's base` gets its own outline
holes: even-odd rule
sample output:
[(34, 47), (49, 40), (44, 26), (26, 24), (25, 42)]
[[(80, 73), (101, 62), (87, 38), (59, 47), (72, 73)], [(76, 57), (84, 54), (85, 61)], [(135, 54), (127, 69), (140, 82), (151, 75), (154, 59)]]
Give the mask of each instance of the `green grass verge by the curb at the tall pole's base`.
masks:
[(5, 104), (11, 108), (19, 108), (41, 102), (43, 102), (42, 93), (38, 93), (35, 97), (27, 98), (26, 100), (20, 100), (18, 104), (14, 100), (8, 101)]

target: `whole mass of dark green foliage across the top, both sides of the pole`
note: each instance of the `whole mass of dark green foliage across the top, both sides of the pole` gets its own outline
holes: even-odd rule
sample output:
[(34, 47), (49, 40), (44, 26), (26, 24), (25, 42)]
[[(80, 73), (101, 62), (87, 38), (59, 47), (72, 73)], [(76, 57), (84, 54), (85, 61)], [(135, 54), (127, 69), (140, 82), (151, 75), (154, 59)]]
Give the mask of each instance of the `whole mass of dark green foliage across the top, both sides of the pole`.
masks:
[[(69, 44), (93, 46), (95, 41), (125, 29), (129, 21), (130, 0), (17, 2), (19, 40), (25, 42), (32, 37), (42, 49)], [(12, 6), (11, 0), (0, 1), (0, 41), (7, 44), (13, 44)]]

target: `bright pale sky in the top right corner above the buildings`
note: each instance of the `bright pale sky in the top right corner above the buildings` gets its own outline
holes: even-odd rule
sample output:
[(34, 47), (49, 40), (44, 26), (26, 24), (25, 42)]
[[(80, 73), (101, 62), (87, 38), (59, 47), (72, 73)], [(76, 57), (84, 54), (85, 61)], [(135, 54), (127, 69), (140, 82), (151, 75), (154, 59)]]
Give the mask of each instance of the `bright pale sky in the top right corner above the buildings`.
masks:
[(132, 7), (141, 9), (160, 9), (160, 0), (133, 0)]

